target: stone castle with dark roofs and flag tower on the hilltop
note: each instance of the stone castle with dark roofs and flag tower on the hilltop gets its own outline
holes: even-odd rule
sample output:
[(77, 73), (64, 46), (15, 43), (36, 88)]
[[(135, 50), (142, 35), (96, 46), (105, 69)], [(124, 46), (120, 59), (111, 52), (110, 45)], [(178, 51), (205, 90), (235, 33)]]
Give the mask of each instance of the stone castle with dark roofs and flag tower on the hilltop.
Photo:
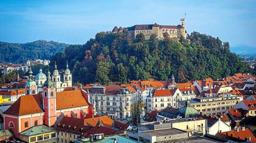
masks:
[(133, 38), (136, 35), (143, 33), (146, 39), (149, 39), (152, 34), (157, 35), (158, 39), (163, 39), (164, 34), (167, 33), (170, 38), (186, 39), (186, 29), (185, 29), (185, 18), (180, 19), (181, 25), (159, 25), (159, 24), (143, 24), (143, 25), (133, 25), (132, 27), (114, 27), (112, 32), (119, 33), (127, 31)]

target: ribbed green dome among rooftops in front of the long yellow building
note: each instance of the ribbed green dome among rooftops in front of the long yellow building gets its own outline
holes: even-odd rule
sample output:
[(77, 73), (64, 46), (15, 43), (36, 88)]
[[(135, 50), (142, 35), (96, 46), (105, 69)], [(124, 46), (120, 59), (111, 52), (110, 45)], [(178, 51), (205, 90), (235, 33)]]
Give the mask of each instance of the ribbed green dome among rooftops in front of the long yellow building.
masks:
[(176, 115), (182, 116), (182, 118), (193, 118), (195, 115), (199, 115), (199, 111), (194, 107), (190, 107), (190, 103), (187, 101), (186, 105), (180, 108)]

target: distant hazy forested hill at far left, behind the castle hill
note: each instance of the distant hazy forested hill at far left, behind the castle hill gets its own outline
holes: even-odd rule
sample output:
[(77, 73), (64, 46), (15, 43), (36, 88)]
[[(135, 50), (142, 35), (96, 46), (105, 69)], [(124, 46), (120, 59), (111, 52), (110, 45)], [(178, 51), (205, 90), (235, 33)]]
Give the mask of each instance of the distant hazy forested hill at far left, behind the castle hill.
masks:
[(51, 59), (63, 52), (68, 44), (38, 40), (25, 44), (0, 42), (0, 62), (24, 63), (27, 59)]

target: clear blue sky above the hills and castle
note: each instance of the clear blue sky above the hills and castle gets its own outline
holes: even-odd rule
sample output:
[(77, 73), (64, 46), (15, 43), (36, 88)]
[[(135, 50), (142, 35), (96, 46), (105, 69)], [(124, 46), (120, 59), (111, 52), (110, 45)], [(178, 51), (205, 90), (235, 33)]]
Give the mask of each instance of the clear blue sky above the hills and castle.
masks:
[(0, 1), (0, 41), (85, 44), (96, 33), (135, 24), (178, 25), (188, 33), (256, 47), (256, 1)]

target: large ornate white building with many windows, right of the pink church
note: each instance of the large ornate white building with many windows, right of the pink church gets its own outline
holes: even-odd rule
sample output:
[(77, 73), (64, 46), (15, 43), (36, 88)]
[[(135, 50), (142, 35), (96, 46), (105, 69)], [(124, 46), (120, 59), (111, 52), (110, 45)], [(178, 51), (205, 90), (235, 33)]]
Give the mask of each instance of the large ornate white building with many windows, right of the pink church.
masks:
[(130, 86), (94, 86), (88, 89), (88, 95), (97, 115), (107, 115), (112, 119), (130, 118), (132, 104), (138, 102), (138, 92)]

